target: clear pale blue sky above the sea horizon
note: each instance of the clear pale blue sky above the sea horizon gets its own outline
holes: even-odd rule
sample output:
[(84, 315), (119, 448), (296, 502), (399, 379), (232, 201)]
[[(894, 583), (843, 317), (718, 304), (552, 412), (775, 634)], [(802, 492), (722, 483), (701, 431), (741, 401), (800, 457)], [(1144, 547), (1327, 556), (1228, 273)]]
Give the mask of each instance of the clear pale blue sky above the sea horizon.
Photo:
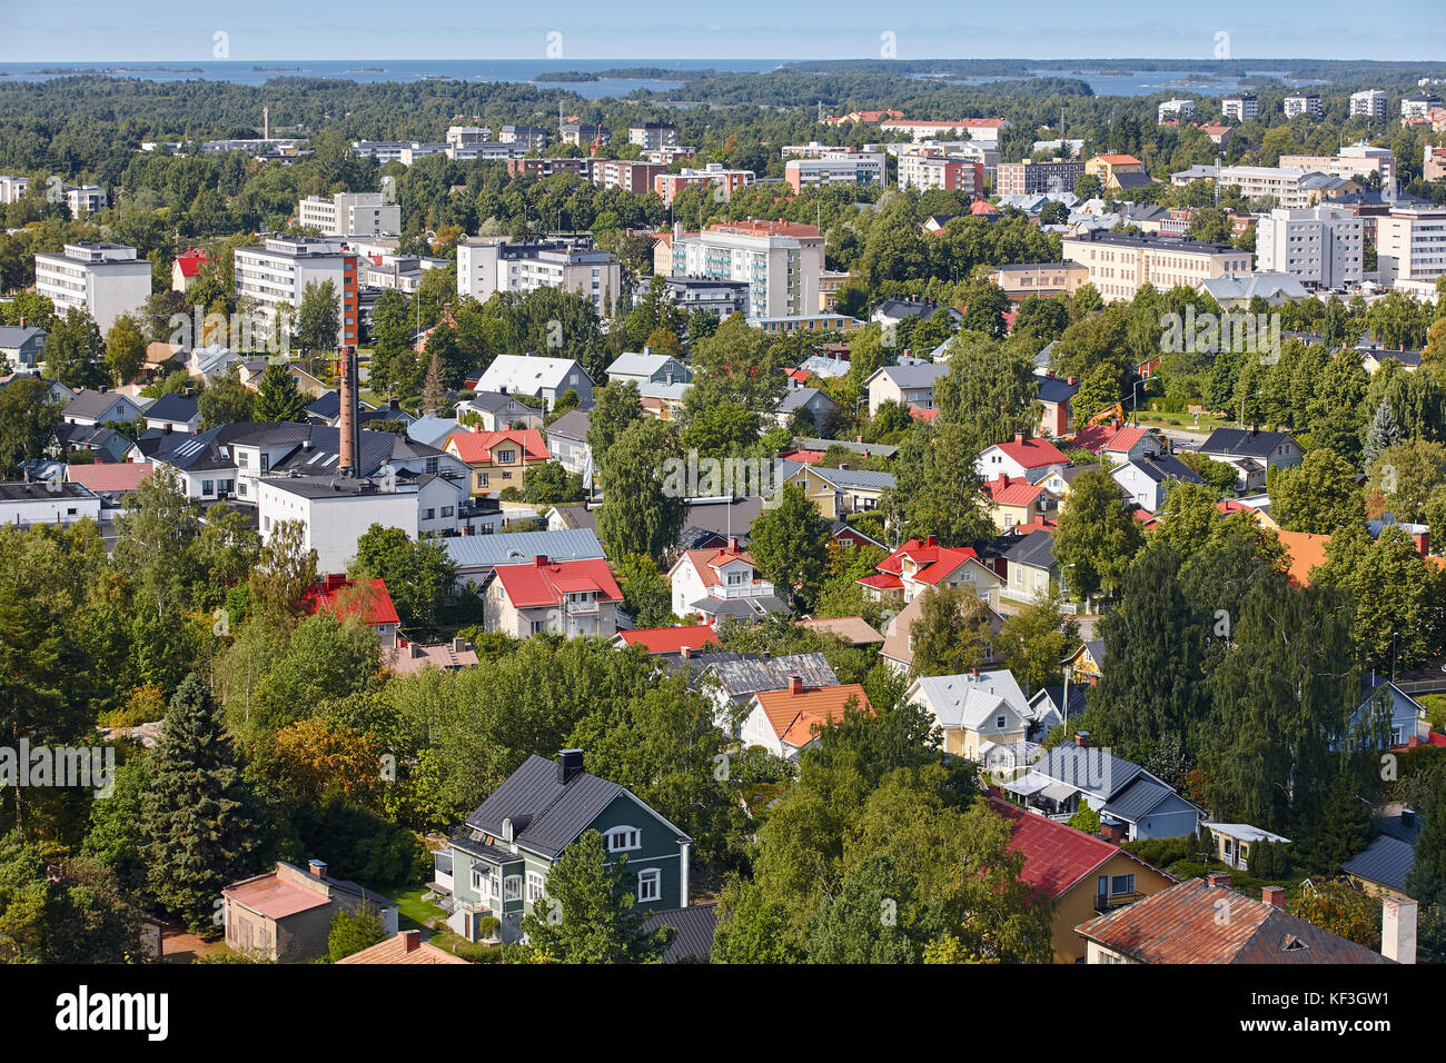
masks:
[[(1440, 61), (1446, 3), (1391, 0), (0, 0), (0, 62), (268, 59), (1339, 58)], [(1371, 20), (1372, 13), (1382, 17)], [(228, 55), (217, 54), (224, 33)], [(548, 51), (549, 33), (552, 51)], [(561, 56), (558, 55), (558, 45)]]

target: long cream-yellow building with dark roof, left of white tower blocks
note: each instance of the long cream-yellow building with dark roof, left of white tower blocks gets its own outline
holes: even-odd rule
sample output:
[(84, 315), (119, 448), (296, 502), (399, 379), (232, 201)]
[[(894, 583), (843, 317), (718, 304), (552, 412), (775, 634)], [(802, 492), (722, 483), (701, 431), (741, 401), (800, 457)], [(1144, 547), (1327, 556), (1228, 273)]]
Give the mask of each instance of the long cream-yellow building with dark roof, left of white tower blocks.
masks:
[(1251, 272), (1249, 252), (1184, 236), (1135, 236), (1093, 230), (1061, 242), (1064, 259), (1089, 270), (1105, 302), (1132, 299), (1142, 285), (1164, 291)]

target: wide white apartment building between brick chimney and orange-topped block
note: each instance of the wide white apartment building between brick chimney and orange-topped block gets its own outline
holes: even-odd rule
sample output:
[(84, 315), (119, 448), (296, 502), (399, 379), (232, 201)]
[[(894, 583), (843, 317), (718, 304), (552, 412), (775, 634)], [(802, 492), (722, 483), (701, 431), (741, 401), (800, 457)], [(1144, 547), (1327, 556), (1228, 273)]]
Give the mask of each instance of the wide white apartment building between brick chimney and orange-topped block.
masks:
[(510, 243), (474, 236), (457, 244), (457, 292), (486, 302), (496, 292), (562, 288), (591, 299), (599, 314), (617, 305), (619, 265), (610, 252), (561, 240)]

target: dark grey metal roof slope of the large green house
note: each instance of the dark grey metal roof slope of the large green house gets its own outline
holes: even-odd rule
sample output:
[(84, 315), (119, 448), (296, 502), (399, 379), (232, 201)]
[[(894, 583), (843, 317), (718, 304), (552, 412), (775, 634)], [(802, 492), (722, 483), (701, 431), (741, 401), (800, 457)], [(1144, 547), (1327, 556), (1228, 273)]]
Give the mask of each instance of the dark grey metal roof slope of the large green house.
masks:
[(562, 782), (557, 762), (532, 755), (477, 806), (467, 826), (502, 837), (502, 821), (510, 820), (518, 846), (551, 859), (587, 830), (613, 798), (626, 793), (626, 787), (586, 771)]

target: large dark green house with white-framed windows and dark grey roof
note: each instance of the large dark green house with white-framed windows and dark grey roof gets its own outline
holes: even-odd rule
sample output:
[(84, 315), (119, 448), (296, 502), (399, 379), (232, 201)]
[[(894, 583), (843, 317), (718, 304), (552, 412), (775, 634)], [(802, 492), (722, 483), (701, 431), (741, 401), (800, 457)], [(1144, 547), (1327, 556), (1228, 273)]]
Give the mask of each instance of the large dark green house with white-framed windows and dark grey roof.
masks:
[(557, 761), (529, 756), (464, 821), (464, 833), (434, 853), (435, 885), (447, 894), (447, 926), (469, 942), (482, 920), (515, 942), (522, 918), (547, 913), (547, 876), (584, 832), (603, 836), (609, 866), (626, 858), (642, 911), (688, 907), (693, 839), (617, 782), (589, 775), (581, 749)]

